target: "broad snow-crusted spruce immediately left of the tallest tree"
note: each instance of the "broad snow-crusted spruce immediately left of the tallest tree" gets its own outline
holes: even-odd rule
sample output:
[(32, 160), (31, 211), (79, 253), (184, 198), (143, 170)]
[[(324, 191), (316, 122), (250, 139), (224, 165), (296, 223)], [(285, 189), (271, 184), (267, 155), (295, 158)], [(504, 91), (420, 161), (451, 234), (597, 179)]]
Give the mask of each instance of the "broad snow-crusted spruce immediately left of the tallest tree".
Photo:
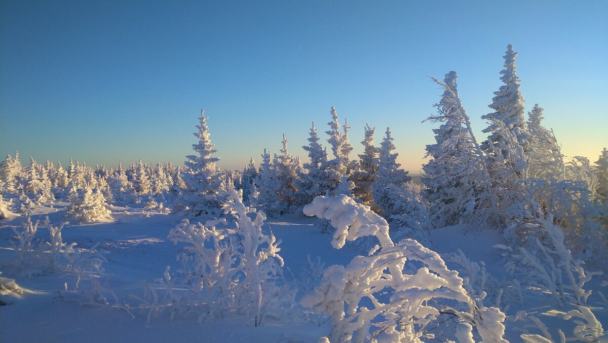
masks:
[[(444, 92), (434, 106), (437, 115), (424, 121), (441, 122), (435, 144), (426, 146), (429, 162), (423, 166), (422, 184), (430, 203), (430, 220), (435, 227), (468, 222), (485, 225), (492, 208), (491, 181), (482, 150), (472, 133), (471, 121), (461, 105), (457, 74), (446, 74), (444, 82), (433, 79)], [(494, 201), (495, 203), (495, 201)]]

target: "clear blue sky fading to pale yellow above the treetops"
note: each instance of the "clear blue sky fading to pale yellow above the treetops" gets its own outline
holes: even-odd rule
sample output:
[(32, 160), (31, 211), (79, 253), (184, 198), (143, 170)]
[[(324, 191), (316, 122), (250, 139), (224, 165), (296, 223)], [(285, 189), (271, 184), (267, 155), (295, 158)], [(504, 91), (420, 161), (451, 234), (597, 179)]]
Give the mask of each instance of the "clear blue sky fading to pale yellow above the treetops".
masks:
[(200, 110), (220, 168), (263, 149), (306, 160), (330, 108), (352, 158), (390, 127), (418, 174), (431, 76), (458, 72), (479, 141), (513, 44), (526, 100), (565, 155), (608, 147), (608, 1), (0, 1), (0, 154), (65, 165), (182, 164)]

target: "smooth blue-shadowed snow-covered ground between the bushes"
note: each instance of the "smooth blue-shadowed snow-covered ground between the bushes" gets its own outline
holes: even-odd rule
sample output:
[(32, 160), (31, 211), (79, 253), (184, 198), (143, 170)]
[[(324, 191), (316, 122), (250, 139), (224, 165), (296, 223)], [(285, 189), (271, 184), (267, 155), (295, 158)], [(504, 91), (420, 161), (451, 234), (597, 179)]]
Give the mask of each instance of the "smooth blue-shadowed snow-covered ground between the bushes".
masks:
[[(54, 209), (38, 208), (36, 211), (47, 213), (50, 222), (57, 225), (64, 220), (67, 205), (57, 203)], [(143, 209), (143, 204), (119, 205), (111, 208), (114, 222), (69, 224), (62, 234), (64, 242), (75, 242), (78, 247), (92, 247), (99, 242), (99, 247), (109, 252), (105, 255), (108, 261), (103, 264), (105, 274), (109, 276), (107, 285), (121, 302), (130, 303), (130, 295), (143, 294), (142, 281), (157, 285), (154, 279), (162, 277), (165, 266), (170, 266), (172, 271), (178, 267), (178, 248), (167, 235), (179, 219)], [(171, 321), (164, 315), (148, 323), (147, 313), (141, 313), (139, 309), (131, 309), (133, 318), (119, 306), (80, 305), (69, 301), (64, 297), (64, 289), (66, 283), (68, 288), (74, 283), (74, 275), (58, 272), (23, 277), (11, 267), (15, 252), (11, 248), (13, 232), (10, 226), (19, 226), (24, 220), (16, 217), (0, 221), (0, 271), (3, 272), (0, 276), (15, 279), (24, 291), (22, 295), (1, 297), (9, 304), (0, 306), (1, 342), (317, 342), (330, 333), (330, 320), (306, 310), (298, 311), (299, 315), (291, 318), (269, 319), (261, 327), (254, 327), (245, 317), (233, 314), (203, 323), (196, 319)], [(307, 265), (307, 254), (313, 259), (320, 256), (325, 267), (346, 265), (353, 256), (361, 254), (348, 244), (340, 250), (334, 249), (331, 236), (320, 233), (317, 222), (316, 218), (304, 214), (288, 214), (269, 218), (264, 225), (264, 230), (272, 230), (277, 239), (282, 240), (280, 255), (285, 260), (285, 267), (296, 277)], [(39, 229), (37, 235), (48, 239), (46, 230)], [(500, 250), (492, 247), (500, 242), (499, 234), (493, 230), (465, 235), (459, 227), (446, 227), (434, 230), (426, 244), (444, 258), (460, 249), (470, 260), (484, 261), (488, 273), (496, 280), (508, 280), (510, 277)], [(455, 263), (447, 261), (447, 264), (460, 270)], [(593, 290), (587, 306), (604, 327), (608, 325), (608, 303), (599, 292), (608, 295), (608, 289), (601, 286), (605, 278), (606, 275), (595, 276), (585, 287)], [(522, 285), (523, 289), (525, 287)], [(528, 316), (541, 319), (554, 338), (558, 338), (558, 328), (572, 336), (575, 324), (572, 320), (563, 320), (560, 315), (571, 308), (559, 308), (550, 295), (542, 292), (525, 293), (523, 304), (511, 303), (503, 308), (508, 316), (505, 321), (508, 341), (521, 341), (520, 334), (531, 324)], [(297, 300), (301, 297), (299, 294)]]

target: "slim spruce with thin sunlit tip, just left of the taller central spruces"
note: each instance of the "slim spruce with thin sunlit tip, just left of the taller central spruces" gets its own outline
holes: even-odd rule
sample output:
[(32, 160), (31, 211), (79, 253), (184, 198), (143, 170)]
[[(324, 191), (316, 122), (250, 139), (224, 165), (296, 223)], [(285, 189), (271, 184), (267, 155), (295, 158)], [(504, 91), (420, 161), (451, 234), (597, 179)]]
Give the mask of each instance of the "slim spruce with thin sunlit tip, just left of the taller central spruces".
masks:
[(306, 197), (300, 192), (299, 165), (294, 157), (289, 154), (287, 144), (289, 141), (283, 133), (283, 149), (281, 155), (274, 155), (274, 181), (277, 183), (277, 197), (281, 205), (279, 213), (288, 213), (290, 208), (297, 209), (305, 205)]

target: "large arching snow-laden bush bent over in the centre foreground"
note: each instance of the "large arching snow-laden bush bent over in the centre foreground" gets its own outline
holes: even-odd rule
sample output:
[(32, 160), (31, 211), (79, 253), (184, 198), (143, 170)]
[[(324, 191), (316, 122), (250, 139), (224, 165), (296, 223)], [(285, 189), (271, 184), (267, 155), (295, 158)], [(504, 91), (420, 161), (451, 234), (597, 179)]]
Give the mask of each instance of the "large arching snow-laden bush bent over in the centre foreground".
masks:
[[(303, 297), (302, 305), (331, 316), (331, 341), (506, 342), (505, 314), (500, 309), (477, 306), (458, 272), (447, 269), (436, 252), (413, 239), (395, 244), (389, 224), (370, 207), (347, 196), (319, 196), (304, 213), (331, 221), (336, 227), (331, 244), (336, 249), (364, 236), (376, 236), (380, 244), (346, 267), (325, 269), (320, 285)], [(447, 325), (449, 320), (458, 324)]]

